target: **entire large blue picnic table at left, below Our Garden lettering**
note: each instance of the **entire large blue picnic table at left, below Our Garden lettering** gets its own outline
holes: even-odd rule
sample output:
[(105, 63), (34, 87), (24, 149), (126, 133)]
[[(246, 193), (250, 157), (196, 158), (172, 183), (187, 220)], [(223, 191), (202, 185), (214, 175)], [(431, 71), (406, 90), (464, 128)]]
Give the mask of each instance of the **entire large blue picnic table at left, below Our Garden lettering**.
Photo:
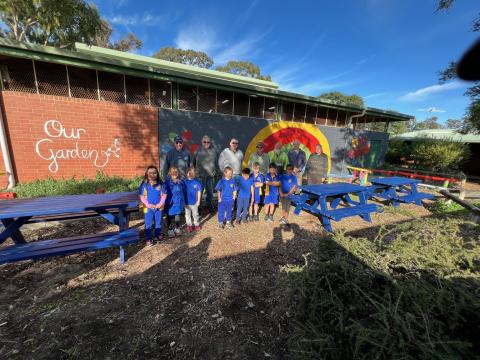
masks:
[[(138, 210), (135, 192), (54, 196), (0, 201), (0, 244), (9, 237), (15, 245), (0, 249), (0, 264), (79, 251), (119, 246), (125, 262), (124, 246), (139, 240), (138, 229), (129, 229), (129, 216)], [(26, 242), (21, 227), (29, 222), (57, 221), (101, 216), (118, 225), (118, 232)]]

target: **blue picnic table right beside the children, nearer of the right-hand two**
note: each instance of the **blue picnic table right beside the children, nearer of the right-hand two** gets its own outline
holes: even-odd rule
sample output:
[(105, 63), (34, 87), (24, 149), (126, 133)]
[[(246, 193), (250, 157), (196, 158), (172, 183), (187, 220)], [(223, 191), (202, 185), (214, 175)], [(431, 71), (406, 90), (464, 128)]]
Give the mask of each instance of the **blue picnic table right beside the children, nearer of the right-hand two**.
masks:
[[(348, 183), (332, 183), (320, 185), (305, 185), (299, 187), (301, 193), (293, 195), (295, 215), (306, 210), (317, 215), (326, 231), (332, 232), (331, 220), (340, 221), (351, 216), (360, 216), (371, 222), (370, 213), (379, 212), (383, 207), (368, 204), (368, 191), (365, 186)], [(350, 196), (354, 194), (358, 201)], [(340, 204), (344, 206), (339, 206)]]

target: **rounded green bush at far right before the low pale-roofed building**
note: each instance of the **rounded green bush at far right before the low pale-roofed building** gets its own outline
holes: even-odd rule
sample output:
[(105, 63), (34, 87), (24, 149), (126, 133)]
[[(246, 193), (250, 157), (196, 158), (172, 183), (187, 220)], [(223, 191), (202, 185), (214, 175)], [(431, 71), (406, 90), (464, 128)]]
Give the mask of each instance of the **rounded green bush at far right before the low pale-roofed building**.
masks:
[(458, 165), (469, 157), (470, 149), (467, 144), (431, 139), (416, 141), (411, 153), (417, 167), (434, 171), (458, 168)]

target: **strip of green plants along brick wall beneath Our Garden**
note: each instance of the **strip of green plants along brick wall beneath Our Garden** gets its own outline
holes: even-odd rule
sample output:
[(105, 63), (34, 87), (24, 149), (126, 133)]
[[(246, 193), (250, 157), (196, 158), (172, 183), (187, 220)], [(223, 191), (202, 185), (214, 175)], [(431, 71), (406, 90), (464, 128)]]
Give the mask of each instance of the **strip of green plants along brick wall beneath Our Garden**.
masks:
[(18, 184), (14, 191), (19, 198), (32, 198), (55, 195), (78, 195), (94, 194), (97, 189), (105, 189), (106, 192), (135, 191), (138, 189), (140, 177), (122, 178), (119, 176), (107, 176), (97, 172), (95, 178), (70, 178), (59, 179), (47, 178), (35, 180), (30, 183)]

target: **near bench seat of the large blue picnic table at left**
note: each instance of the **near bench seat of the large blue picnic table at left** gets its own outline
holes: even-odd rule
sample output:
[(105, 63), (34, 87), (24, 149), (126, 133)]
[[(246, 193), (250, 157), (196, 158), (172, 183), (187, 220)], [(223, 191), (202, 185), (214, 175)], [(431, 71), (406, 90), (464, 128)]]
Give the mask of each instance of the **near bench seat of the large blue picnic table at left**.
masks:
[(113, 246), (120, 247), (120, 261), (125, 262), (123, 246), (140, 240), (139, 230), (127, 229), (94, 235), (73, 236), (62, 239), (39, 240), (0, 249), (0, 264), (21, 260), (34, 260), (49, 256), (67, 255), (80, 251), (95, 251)]

